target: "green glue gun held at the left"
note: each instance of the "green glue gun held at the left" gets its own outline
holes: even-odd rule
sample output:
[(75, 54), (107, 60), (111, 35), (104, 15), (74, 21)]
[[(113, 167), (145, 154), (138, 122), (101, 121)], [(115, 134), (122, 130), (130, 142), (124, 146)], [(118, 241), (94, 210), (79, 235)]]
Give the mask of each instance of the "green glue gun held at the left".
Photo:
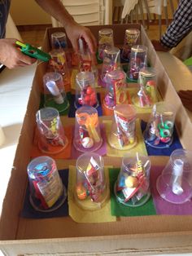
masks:
[(28, 43), (16, 41), (16, 45), (20, 46), (20, 50), (25, 55), (28, 55), (32, 58), (36, 58), (37, 60), (48, 61), (51, 58), (48, 53), (41, 51), (38, 48), (29, 45)]

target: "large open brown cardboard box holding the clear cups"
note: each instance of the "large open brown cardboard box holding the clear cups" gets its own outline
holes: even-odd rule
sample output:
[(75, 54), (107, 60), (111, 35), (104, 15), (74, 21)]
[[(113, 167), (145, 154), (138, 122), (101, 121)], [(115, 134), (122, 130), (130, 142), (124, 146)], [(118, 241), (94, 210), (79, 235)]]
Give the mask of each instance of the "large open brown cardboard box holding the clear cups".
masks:
[[(148, 47), (151, 66), (158, 71), (159, 92), (165, 101), (175, 106), (176, 126), (181, 143), (184, 148), (191, 149), (192, 126), (189, 117), (144, 29), (135, 24), (105, 27), (112, 27), (114, 30), (116, 46), (122, 46), (125, 29), (128, 27), (141, 29), (142, 44)], [(98, 29), (101, 29), (101, 26), (91, 28), (96, 38)], [(50, 34), (56, 30), (60, 28), (46, 31), (44, 51), (50, 50)], [(39, 64), (3, 203), (0, 222), (0, 249), (3, 253), (6, 255), (150, 255), (192, 252), (192, 215), (117, 218), (115, 223), (75, 223), (70, 217), (46, 219), (20, 217), (28, 182), (26, 167), (30, 161), (29, 153), (36, 126), (35, 114), (40, 102), (42, 76), (45, 72), (46, 64)], [(142, 115), (144, 120), (148, 120), (148, 117), (149, 114)], [(68, 121), (68, 117), (63, 117), (63, 123), (65, 121)], [(104, 161), (106, 165), (110, 163), (113, 166), (120, 166), (121, 159), (104, 157)], [(155, 166), (164, 166), (167, 161), (168, 157), (151, 157), (151, 164)], [(69, 164), (75, 164), (75, 160), (57, 161), (59, 169), (68, 167)]]

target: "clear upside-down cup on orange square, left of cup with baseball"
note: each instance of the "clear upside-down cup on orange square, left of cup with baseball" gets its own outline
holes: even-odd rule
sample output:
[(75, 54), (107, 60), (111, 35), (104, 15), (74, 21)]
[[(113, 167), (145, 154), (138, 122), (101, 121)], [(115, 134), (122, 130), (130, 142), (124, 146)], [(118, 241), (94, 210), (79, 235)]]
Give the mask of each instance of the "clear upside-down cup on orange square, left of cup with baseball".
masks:
[(56, 154), (68, 145), (59, 112), (55, 108), (41, 108), (36, 113), (38, 147), (41, 152)]

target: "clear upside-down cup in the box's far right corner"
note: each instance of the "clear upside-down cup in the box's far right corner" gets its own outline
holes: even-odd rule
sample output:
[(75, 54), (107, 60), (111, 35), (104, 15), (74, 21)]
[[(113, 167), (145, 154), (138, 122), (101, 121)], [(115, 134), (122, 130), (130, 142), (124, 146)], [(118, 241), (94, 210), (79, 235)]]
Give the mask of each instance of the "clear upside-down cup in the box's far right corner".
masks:
[(124, 47), (121, 54), (123, 60), (130, 60), (131, 47), (137, 45), (137, 41), (140, 35), (138, 29), (126, 29), (124, 34)]

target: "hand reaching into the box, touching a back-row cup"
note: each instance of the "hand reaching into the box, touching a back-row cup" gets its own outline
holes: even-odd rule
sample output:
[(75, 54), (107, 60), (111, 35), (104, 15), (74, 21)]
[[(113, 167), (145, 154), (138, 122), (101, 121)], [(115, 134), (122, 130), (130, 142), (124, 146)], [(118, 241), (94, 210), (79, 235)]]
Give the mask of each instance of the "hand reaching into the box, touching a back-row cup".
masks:
[(66, 33), (68, 34), (69, 40), (72, 42), (74, 51), (78, 51), (78, 39), (84, 38), (85, 42), (89, 46), (91, 53), (95, 53), (97, 48), (97, 42), (94, 38), (93, 33), (90, 29), (77, 24), (75, 21), (65, 26)]

